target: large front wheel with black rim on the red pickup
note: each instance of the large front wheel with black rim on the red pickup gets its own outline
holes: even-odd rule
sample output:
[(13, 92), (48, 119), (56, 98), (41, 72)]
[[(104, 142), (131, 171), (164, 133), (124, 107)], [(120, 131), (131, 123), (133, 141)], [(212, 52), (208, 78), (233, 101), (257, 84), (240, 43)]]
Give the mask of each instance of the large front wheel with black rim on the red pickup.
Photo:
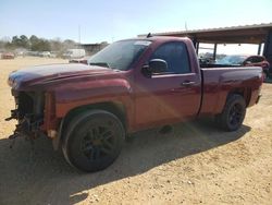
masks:
[(113, 113), (90, 110), (67, 125), (62, 152), (73, 167), (95, 172), (109, 167), (120, 155), (125, 138), (122, 122)]

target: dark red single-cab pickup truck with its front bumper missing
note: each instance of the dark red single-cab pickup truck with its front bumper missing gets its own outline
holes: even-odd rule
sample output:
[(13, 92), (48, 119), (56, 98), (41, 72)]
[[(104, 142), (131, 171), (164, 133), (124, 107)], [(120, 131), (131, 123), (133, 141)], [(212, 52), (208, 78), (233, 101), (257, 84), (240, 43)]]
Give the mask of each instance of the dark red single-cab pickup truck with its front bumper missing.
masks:
[(52, 138), (65, 159), (98, 171), (119, 156), (128, 133), (214, 116), (240, 128), (260, 98), (261, 68), (200, 69), (188, 38), (147, 37), (111, 44), (84, 64), (15, 71), (9, 85), (18, 121), (14, 134)]

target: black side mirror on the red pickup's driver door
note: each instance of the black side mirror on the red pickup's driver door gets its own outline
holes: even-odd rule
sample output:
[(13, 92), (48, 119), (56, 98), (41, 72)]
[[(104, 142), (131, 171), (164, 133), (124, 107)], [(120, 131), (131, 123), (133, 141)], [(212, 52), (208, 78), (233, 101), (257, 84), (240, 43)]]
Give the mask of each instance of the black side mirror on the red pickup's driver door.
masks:
[(163, 73), (168, 71), (168, 63), (162, 59), (152, 59), (148, 65), (143, 67), (143, 73), (146, 76), (151, 76), (153, 73)]

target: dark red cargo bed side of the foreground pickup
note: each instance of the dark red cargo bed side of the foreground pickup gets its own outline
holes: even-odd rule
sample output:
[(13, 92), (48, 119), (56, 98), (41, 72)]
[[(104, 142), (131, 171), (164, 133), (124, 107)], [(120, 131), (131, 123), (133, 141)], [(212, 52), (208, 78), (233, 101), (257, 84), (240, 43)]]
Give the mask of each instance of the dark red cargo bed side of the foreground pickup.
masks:
[[(261, 68), (201, 68), (200, 70), (202, 76), (200, 114), (220, 113), (230, 93), (240, 93), (247, 97), (248, 107), (256, 104), (260, 93), (259, 86), (262, 83)], [(250, 96), (246, 96), (247, 94)]]

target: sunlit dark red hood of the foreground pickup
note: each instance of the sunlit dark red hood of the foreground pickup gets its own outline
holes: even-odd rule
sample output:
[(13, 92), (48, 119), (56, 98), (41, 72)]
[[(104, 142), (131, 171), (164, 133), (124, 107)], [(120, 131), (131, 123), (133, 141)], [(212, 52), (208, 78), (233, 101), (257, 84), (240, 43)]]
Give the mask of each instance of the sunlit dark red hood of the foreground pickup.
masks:
[(13, 71), (8, 80), (13, 89), (21, 89), (26, 86), (46, 84), (52, 81), (66, 80), (76, 76), (101, 75), (115, 73), (108, 68), (85, 64), (47, 64), (30, 67), (18, 71)]

